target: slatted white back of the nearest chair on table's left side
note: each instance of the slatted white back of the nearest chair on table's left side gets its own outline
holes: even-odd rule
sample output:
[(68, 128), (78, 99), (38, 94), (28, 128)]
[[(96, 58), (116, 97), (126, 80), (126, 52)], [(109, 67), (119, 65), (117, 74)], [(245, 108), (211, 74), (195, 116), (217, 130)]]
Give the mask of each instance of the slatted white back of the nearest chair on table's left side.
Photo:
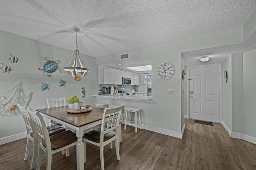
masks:
[(46, 148), (51, 148), (50, 136), (45, 125), (42, 115), (38, 111), (32, 111), (29, 107), (27, 108), (28, 112), (34, 123), (34, 133), (38, 135), (38, 143), (42, 145), (42, 141), (46, 142)]

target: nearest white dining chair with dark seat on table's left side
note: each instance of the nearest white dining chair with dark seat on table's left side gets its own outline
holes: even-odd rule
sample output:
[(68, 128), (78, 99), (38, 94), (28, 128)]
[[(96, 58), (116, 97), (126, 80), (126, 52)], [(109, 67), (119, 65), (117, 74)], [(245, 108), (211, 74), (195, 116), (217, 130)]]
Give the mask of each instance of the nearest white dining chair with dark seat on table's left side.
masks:
[(72, 131), (64, 131), (56, 135), (50, 136), (44, 119), (38, 111), (28, 110), (33, 120), (34, 132), (37, 133), (38, 138), (38, 162), (36, 169), (40, 170), (42, 163), (42, 154), (46, 153), (46, 170), (50, 170), (52, 166), (52, 154), (57, 153), (61, 150), (68, 149), (76, 145), (77, 137)]

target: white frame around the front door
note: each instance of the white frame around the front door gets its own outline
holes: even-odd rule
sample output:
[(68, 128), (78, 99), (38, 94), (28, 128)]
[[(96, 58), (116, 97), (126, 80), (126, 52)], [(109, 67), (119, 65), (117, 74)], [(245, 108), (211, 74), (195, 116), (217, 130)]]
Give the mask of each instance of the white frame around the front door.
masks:
[[(187, 74), (189, 79), (189, 69), (190, 68), (196, 68), (196, 67), (206, 67), (206, 66), (219, 66), (219, 101), (220, 101), (220, 119), (218, 123), (222, 123), (222, 63), (216, 63), (216, 64), (204, 64), (204, 65), (196, 65), (196, 66), (187, 66)], [(189, 80), (187, 80), (187, 113), (188, 113), (188, 119), (190, 119), (190, 113), (189, 113)]]

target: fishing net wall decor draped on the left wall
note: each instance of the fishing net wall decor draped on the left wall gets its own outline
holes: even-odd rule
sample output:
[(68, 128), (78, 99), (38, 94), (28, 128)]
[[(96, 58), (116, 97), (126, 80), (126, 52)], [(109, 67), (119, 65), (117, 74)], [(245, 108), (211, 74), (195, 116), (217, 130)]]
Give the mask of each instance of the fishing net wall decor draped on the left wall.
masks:
[(20, 115), (20, 109), (17, 104), (26, 106), (32, 92), (28, 97), (24, 97), (21, 91), (21, 82), (14, 88), (5, 92), (0, 92), (0, 116)]

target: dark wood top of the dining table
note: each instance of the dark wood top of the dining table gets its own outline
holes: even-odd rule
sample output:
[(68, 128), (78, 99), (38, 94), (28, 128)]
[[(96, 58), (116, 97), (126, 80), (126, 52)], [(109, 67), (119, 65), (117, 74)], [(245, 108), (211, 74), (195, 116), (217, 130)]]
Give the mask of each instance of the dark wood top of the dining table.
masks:
[(45, 115), (54, 117), (70, 125), (81, 127), (95, 121), (102, 120), (104, 109), (98, 107), (92, 107), (92, 110), (84, 113), (69, 113), (67, 111), (68, 106), (51, 107), (45, 109), (36, 109)]

